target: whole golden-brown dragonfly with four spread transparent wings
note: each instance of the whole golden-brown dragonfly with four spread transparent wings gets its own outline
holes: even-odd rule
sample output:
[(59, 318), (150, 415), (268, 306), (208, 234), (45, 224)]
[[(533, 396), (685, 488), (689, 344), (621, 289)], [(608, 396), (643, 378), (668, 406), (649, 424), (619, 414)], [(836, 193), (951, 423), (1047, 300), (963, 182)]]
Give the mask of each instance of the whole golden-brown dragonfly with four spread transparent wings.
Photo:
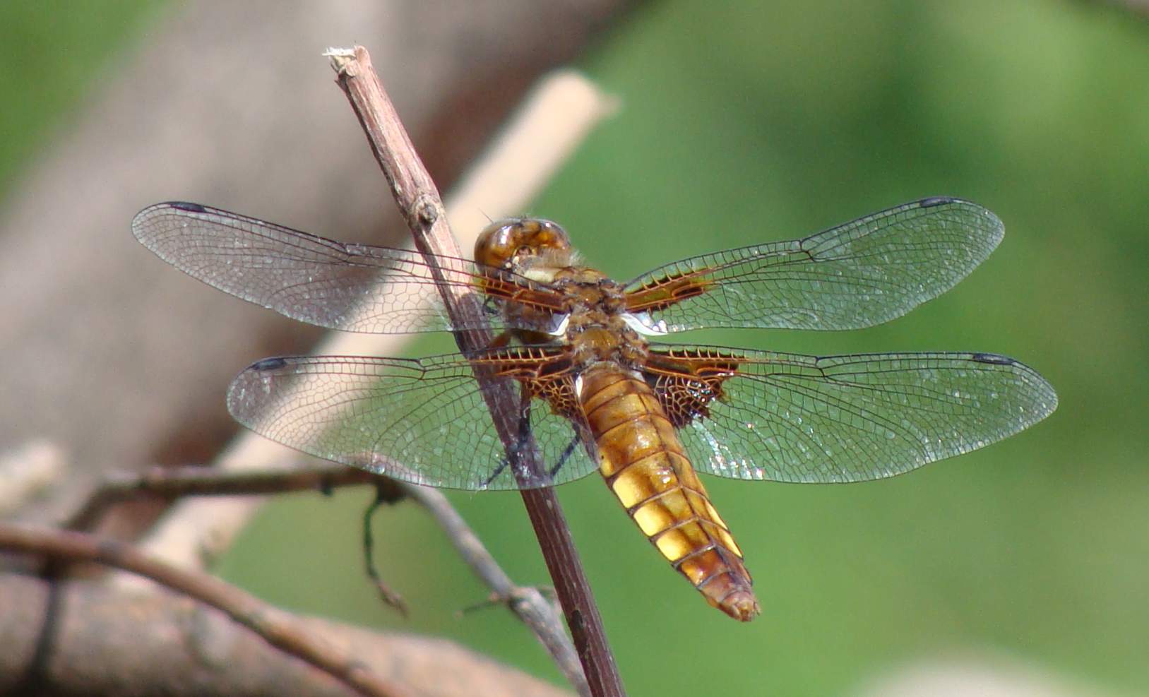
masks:
[[(912, 201), (624, 282), (535, 218), (492, 223), (473, 260), (348, 245), (186, 202), (145, 208), (132, 231), (186, 273), (314, 325), (489, 326), (494, 339), (465, 353), (264, 358), (231, 384), (228, 408), (271, 440), (417, 485), (524, 489), (599, 471), (672, 567), (743, 621), (761, 605), (699, 473), (881, 479), (1000, 441), (1057, 406), (1038, 372), (992, 353), (807, 356), (666, 342), (687, 330), (855, 330), (901, 317), (1002, 240), (1002, 222), (962, 199)], [(442, 288), (481, 311), (453, 319)], [(510, 447), (477, 375), (517, 389)], [(517, 466), (527, 448), (543, 467)]]

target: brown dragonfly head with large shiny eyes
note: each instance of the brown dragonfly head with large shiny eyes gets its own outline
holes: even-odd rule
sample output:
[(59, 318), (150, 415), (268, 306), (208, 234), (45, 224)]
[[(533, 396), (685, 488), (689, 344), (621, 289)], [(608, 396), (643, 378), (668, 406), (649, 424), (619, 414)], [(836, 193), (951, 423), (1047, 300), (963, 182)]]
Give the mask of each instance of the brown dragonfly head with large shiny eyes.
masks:
[(572, 255), (566, 231), (541, 218), (495, 220), (475, 242), (476, 262), (519, 272), (535, 265), (569, 266)]

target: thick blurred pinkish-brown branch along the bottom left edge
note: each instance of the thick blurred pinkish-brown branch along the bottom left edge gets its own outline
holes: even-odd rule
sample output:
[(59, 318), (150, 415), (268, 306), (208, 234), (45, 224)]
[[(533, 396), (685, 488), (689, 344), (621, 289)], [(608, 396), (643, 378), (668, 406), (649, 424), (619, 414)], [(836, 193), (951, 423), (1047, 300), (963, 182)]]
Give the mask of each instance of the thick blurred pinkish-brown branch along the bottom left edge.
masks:
[[(53, 603), (60, 610), (48, 612)], [(570, 695), (449, 641), (380, 634), (321, 618), (293, 621), (301, 635), (354, 656), (416, 695)], [(46, 657), (37, 652), (41, 632), (52, 635)], [(0, 573), (0, 644), (5, 695), (353, 694), (217, 610), (185, 596), (140, 595), (95, 581), (53, 586)]]

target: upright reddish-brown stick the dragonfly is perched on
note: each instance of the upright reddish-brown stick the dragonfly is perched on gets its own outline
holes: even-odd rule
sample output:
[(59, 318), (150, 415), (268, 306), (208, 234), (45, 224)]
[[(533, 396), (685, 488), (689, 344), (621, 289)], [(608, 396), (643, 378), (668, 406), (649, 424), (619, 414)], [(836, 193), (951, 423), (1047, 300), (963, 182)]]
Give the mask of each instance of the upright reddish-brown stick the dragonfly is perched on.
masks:
[[(424, 254), (461, 256), (447, 223), (438, 188), (415, 153), (391, 100), (371, 67), (367, 49), (356, 46), (352, 52), (333, 52), (332, 63), (338, 73), (339, 86), (347, 94), (352, 108), (363, 125), (371, 149), (392, 186), (395, 202), (411, 229), (416, 247)], [(440, 285), (440, 292), (452, 318), (481, 317), (473, 295), (453, 293), (446, 284)], [(489, 340), (489, 332), (486, 333), (487, 336), (483, 334), (458, 333), (455, 339), (460, 348), (468, 351), (485, 346)], [(477, 377), (484, 386), (484, 396), (495, 431), (510, 452), (516, 442), (518, 395), (508, 381)], [(535, 449), (527, 447), (523, 450), (533, 452)], [(524, 458), (516, 458), (520, 459)], [(542, 464), (538, 462), (522, 464), (534, 472), (543, 471)], [(618, 668), (607, 644), (602, 620), (558, 498), (550, 488), (525, 489), (523, 502), (539, 539), (547, 568), (555, 582), (555, 590), (566, 615), (566, 624), (583, 663), (591, 694), (612, 697), (623, 695)]]

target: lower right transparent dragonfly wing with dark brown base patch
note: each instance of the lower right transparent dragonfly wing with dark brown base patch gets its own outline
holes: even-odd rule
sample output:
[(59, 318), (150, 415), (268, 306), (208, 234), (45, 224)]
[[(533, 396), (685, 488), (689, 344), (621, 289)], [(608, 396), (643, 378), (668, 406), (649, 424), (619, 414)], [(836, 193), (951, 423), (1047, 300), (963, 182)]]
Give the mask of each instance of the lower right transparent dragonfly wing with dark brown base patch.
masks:
[(995, 354), (660, 346), (646, 375), (695, 467), (733, 479), (893, 477), (1000, 441), (1057, 406), (1041, 375)]

